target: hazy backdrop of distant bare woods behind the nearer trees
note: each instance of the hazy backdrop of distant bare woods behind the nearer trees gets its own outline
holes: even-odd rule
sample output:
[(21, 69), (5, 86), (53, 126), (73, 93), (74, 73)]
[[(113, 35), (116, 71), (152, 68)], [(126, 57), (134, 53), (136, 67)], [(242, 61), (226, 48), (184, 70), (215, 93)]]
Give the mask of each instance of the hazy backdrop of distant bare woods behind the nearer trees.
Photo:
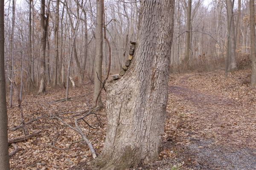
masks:
[[(129, 42), (137, 38), (140, 2), (109, 0), (105, 1), (103, 8), (106, 37), (111, 45), (110, 74), (117, 74), (128, 59)], [(230, 64), (226, 67), (228, 71), (235, 71), (237, 60), (251, 52), (250, 29), (253, 28), (250, 28), (250, 4), (247, 0), (235, 3), (233, 0), (214, 0), (208, 5), (202, 0), (177, 0), (173, 17), (172, 71), (224, 69), (229, 54), (233, 58), (227, 57), (226, 61)], [(75, 32), (70, 77), (78, 86), (83, 84), (84, 79), (93, 82), (98, 48), (96, 0), (21, 0), (19, 4), (15, 0), (6, 0), (4, 24), (8, 90), (11, 83), (7, 77), (13, 77), (18, 85), (21, 83), (23, 50), (23, 91), (39, 89), (40, 83), (47, 87), (63, 87), (67, 82)], [(108, 72), (109, 57), (104, 39), (102, 49), (104, 77)]]

